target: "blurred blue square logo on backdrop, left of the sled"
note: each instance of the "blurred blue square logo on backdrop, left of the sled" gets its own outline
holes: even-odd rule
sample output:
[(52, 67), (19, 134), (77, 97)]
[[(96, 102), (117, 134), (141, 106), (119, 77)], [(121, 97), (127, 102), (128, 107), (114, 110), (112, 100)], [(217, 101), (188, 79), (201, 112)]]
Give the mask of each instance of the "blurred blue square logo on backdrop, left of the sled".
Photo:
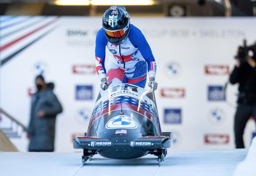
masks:
[(92, 100), (93, 86), (92, 85), (77, 85), (75, 89), (75, 99), (77, 100)]

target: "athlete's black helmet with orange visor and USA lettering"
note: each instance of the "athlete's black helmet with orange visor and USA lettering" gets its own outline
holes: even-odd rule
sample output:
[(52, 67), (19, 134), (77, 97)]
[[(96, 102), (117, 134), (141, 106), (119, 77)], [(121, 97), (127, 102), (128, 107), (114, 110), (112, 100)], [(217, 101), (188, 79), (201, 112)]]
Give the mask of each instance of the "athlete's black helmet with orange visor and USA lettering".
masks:
[(124, 6), (111, 6), (102, 19), (107, 40), (114, 45), (125, 41), (130, 30), (130, 16)]

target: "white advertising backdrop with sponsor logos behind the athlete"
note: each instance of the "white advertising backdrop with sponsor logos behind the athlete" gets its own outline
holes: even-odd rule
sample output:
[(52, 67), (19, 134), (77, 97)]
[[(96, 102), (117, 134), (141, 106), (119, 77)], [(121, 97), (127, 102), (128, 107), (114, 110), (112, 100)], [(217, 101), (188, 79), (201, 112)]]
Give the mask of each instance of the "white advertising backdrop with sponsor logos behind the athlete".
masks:
[[(1, 16), (0, 107), (28, 126), (38, 74), (55, 84), (63, 106), (57, 116), (55, 151), (72, 152), (86, 132), (100, 80), (95, 37), (100, 17)], [(155, 91), (162, 131), (170, 150), (234, 148), (237, 85), (224, 85), (243, 39), (256, 40), (255, 18), (131, 18), (145, 35), (157, 63)], [(106, 50), (106, 62), (110, 52)], [(149, 89), (146, 85), (146, 89)], [(2, 118), (0, 126), (8, 126)], [(245, 129), (249, 147), (255, 122)], [(26, 134), (11, 141), (27, 151)]]

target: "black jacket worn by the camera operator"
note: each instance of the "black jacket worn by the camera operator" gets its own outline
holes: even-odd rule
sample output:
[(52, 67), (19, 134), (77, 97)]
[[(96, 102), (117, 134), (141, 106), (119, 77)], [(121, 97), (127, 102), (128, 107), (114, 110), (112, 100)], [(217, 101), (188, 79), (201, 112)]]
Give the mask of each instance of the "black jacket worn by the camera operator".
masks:
[(238, 103), (256, 104), (256, 67), (241, 62), (239, 68), (234, 68), (229, 81), (231, 84), (239, 83)]

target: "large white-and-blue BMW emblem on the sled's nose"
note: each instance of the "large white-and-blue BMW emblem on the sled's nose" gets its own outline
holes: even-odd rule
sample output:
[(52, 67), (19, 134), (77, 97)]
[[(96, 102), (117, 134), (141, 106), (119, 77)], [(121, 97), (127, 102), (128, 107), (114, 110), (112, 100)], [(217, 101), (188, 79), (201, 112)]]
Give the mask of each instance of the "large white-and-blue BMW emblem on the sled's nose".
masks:
[(126, 115), (118, 115), (116, 117), (113, 117), (106, 124), (107, 129), (117, 129), (117, 128), (134, 129), (137, 127), (138, 127), (137, 122), (135, 122), (134, 119), (132, 119)]

